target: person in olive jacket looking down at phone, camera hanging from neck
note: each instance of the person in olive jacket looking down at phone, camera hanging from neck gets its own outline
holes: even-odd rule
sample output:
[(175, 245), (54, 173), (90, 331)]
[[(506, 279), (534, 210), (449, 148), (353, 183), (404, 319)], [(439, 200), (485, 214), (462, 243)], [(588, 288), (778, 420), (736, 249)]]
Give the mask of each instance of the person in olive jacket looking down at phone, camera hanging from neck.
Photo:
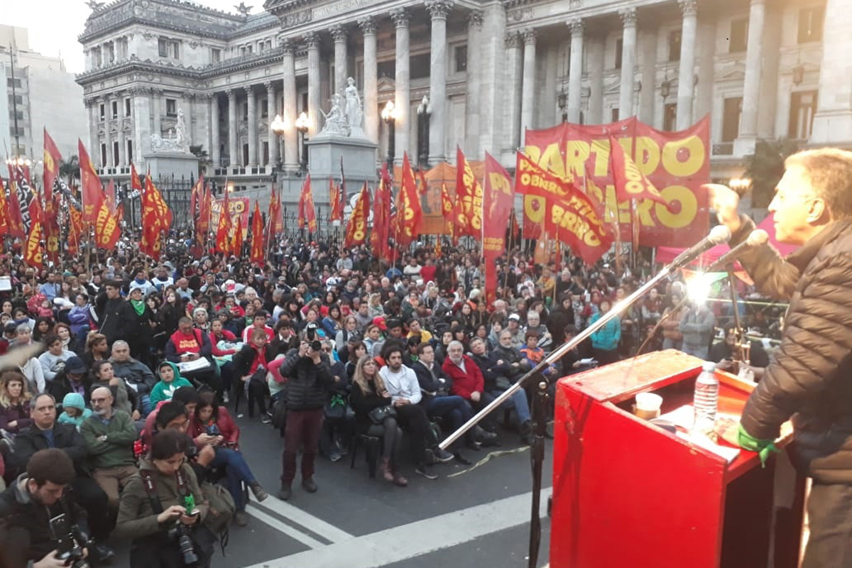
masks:
[(115, 535), (132, 540), (131, 568), (210, 565), (215, 536), (202, 524), (208, 505), (185, 463), (190, 445), (181, 432), (157, 433), (124, 488)]

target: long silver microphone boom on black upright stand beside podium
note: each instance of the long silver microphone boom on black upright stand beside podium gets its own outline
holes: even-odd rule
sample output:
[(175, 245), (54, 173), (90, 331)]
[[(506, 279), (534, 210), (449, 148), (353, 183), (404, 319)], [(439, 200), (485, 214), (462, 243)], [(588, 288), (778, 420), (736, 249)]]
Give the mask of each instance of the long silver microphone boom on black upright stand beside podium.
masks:
[(443, 442), (438, 445), (441, 450), (446, 450), (446, 448), (448, 448), (450, 445), (452, 445), (453, 442), (461, 438), (464, 433), (466, 433), (470, 428), (475, 427), (476, 424), (478, 424), (483, 418), (491, 414), (494, 410), (498, 409), (513, 394), (515, 394), (519, 389), (523, 388), (524, 384), (532, 377), (537, 380), (538, 391), (533, 399), (532, 415), (532, 428), (534, 433), (533, 451), (531, 456), (533, 465), (533, 510), (530, 519), (529, 562), (527, 563), (529, 568), (535, 568), (536, 564), (538, 563), (538, 548), (541, 540), (541, 519), (539, 517), (538, 508), (541, 502), (541, 473), (544, 462), (544, 399), (547, 396), (547, 382), (544, 379), (544, 375), (542, 374), (543, 371), (550, 364), (556, 363), (557, 361), (562, 359), (562, 357), (564, 357), (566, 353), (571, 351), (574, 347), (577, 347), (581, 342), (588, 339), (593, 333), (595, 333), (597, 330), (600, 330), (613, 318), (624, 312), (626, 308), (630, 307), (630, 305), (633, 304), (640, 297), (642, 297), (642, 295), (645, 295), (648, 290), (651, 290), (661, 280), (668, 278), (671, 273), (679, 270), (689, 260), (691, 259), (672, 262), (669, 266), (663, 268), (653, 278), (648, 280), (648, 282), (642, 284), (639, 289), (627, 296), (624, 300), (619, 301), (617, 304), (615, 304), (612, 309), (609, 310), (609, 312), (604, 313), (601, 318), (599, 318), (594, 324), (591, 324), (585, 330), (579, 332), (579, 334), (577, 334), (577, 336), (574, 336), (571, 341), (563, 343), (561, 347), (556, 349), (556, 351), (550, 353), (550, 355), (542, 359), (541, 363), (537, 364), (533, 368), (533, 370), (530, 370), (529, 372), (527, 372), (526, 375), (521, 376), (521, 378), (518, 379), (515, 384), (506, 389), (496, 399), (493, 399), (491, 403), (487, 404), (485, 408), (477, 412), (474, 416), (470, 418), (468, 422), (465, 422), (461, 427), (458, 428), (458, 430), (451, 433), (449, 436), (446, 437), (446, 439), (444, 439)]

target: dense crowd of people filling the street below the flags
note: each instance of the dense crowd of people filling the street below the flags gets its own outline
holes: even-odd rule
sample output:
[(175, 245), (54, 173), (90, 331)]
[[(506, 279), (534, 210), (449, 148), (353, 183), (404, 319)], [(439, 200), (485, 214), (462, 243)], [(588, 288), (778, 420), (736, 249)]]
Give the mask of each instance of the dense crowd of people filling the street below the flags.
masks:
[[(652, 270), (647, 260), (633, 271), (540, 265), (516, 252), (498, 263), (486, 301), (481, 262), (463, 249), (415, 247), (391, 266), (364, 248), (284, 240), (265, 267), (123, 250), (41, 271), (20, 256), (0, 264), (0, 518), (27, 517), (0, 529), (0, 566), (57, 565), (49, 520), (78, 509), (95, 561), (127, 538), (133, 566), (183, 565), (187, 536), (208, 564), (227, 525), (249, 522), (249, 491), (268, 498), (239, 450), (239, 421), (279, 429), (283, 500), (297, 469), (302, 490), (318, 491), (317, 457), (337, 462), (359, 442), (378, 440), (381, 477), (400, 487), (409, 471), (435, 479), (436, 464), (469, 464), (469, 452), (507, 436), (527, 442), (521, 388), (504, 412), (439, 447)], [(732, 307), (683, 306), (685, 294), (677, 281), (652, 290), (544, 376), (613, 363), (642, 343), (732, 364), (738, 338), (721, 325)], [(748, 318), (765, 336), (777, 331), (771, 313)], [(726, 339), (714, 346), (718, 327)], [(768, 363), (762, 346), (754, 367)]]

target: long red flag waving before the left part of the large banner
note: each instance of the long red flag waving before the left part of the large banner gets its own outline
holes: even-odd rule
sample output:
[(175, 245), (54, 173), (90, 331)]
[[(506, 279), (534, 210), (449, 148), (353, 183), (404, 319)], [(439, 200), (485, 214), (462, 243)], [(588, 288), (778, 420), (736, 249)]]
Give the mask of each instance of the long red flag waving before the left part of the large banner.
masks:
[(540, 200), (544, 231), (570, 245), (587, 264), (594, 264), (613, 244), (613, 233), (598, 215), (595, 202), (572, 181), (542, 169), (521, 152), (517, 156), (517, 191)]

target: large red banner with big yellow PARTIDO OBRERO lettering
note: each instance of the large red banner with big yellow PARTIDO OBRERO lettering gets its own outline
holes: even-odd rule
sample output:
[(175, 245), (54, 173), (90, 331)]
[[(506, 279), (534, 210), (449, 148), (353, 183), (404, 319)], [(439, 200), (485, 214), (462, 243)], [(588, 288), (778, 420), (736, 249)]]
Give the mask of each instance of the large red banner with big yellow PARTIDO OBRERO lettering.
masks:
[[(636, 118), (583, 126), (562, 123), (550, 129), (527, 130), (526, 154), (556, 176), (573, 179), (605, 204), (604, 221), (618, 211), (621, 236), (630, 240), (631, 221), (640, 224), (639, 242), (646, 245), (687, 246), (708, 229), (708, 198), (700, 186), (710, 178), (710, 125), (703, 118), (689, 129), (662, 132)], [(666, 204), (638, 200), (616, 204), (610, 166), (609, 136), (619, 141), (636, 166), (665, 198)], [(544, 220), (542, 198), (524, 198), (525, 238), (538, 238)]]

